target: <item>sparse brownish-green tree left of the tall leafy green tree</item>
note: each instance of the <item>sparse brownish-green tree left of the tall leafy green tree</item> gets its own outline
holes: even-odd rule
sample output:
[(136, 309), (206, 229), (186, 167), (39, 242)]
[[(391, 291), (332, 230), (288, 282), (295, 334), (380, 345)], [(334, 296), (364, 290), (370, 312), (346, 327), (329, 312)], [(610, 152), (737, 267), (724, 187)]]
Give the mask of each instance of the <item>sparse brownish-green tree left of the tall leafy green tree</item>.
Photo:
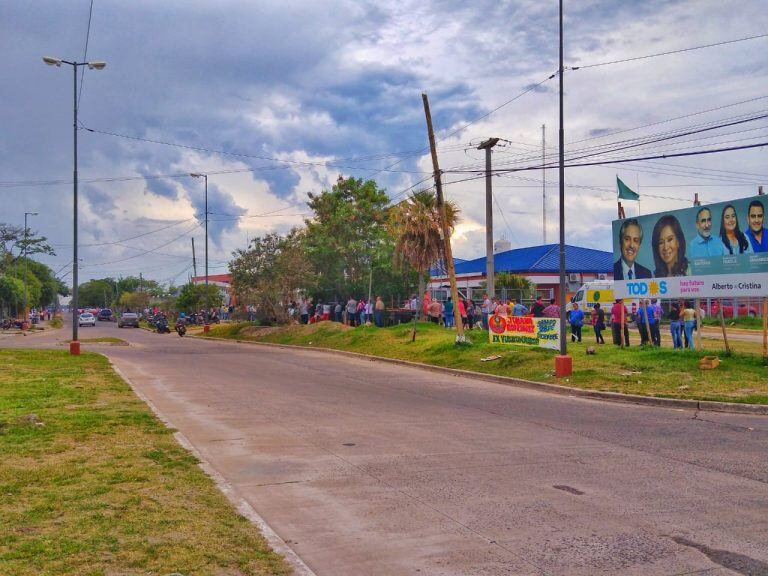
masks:
[(304, 254), (305, 235), (267, 234), (236, 250), (229, 264), (232, 287), (241, 301), (256, 305), (268, 318), (287, 319), (287, 305), (314, 276)]

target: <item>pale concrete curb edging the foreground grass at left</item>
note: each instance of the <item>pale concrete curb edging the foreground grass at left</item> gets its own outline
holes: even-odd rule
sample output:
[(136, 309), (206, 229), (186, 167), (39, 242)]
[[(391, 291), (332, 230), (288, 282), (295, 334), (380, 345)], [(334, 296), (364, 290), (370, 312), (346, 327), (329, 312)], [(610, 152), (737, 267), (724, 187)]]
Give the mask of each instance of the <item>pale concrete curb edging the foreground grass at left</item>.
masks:
[[(150, 410), (152, 410), (152, 413), (158, 418), (158, 420), (165, 424), (167, 428), (176, 429), (176, 427), (165, 417), (165, 415), (160, 412), (157, 406), (155, 406), (155, 404), (149, 398), (147, 398), (136, 388), (136, 386), (134, 386), (133, 382), (131, 382), (128, 376), (126, 376), (120, 370), (120, 368), (115, 366), (109, 358), (107, 358), (107, 361), (109, 362), (109, 365), (112, 366), (112, 369), (115, 371), (115, 373), (120, 376), (120, 378), (122, 378), (125, 383), (128, 384), (128, 386), (130, 386), (131, 390), (133, 390), (133, 393), (136, 394), (136, 396), (142, 402), (149, 406)], [(224, 476), (222, 476), (210, 464), (210, 462), (203, 458), (202, 454), (198, 452), (194, 444), (192, 444), (192, 442), (190, 442), (182, 432), (176, 430), (176, 432), (173, 433), (173, 437), (179, 444), (181, 444), (182, 447), (184, 447), (184, 449), (186, 449), (195, 458), (198, 459), (200, 462), (199, 466), (203, 472), (209, 478), (211, 478), (211, 480), (213, 480), (213, 482), (216, 484), (216, 487), (224, 494), (224, 496), (227, 497), (227, 500), (229, 500), (229, 502), (235, 507), (237, 512), (258, 527), (262, 536), (264, 536), (264, 539), (267, 541), (272, 550), (285, 558), (286, 562), (288, 562), (288, 564), (291, 566), (293, 573), (296, 576), (316, 576), (312, 569), (304, 563), (299, 555), (296, 554), (296, 552), (294, 552), (293, 549), (288, 546), (288, 544), (286, 544), (285, 540), (280, 538), (277, 532), (275, 532), (272, 527), (267, 524), (267, 521), (264, 520), (264, 518), (262, 518), (261, 515), (256, 512), (256, 510), (254, 510), (254, 508), (237, 493), (235, 488), (229, 482), (227, 482)]]

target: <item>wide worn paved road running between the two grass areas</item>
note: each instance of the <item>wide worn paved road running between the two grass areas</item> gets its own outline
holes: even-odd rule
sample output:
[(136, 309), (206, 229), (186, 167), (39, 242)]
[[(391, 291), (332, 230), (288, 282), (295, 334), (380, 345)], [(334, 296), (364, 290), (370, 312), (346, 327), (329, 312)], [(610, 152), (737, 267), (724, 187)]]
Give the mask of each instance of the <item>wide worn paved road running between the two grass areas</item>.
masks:
[(768, 574), (768, 418), (90, 334), (318, 575)]

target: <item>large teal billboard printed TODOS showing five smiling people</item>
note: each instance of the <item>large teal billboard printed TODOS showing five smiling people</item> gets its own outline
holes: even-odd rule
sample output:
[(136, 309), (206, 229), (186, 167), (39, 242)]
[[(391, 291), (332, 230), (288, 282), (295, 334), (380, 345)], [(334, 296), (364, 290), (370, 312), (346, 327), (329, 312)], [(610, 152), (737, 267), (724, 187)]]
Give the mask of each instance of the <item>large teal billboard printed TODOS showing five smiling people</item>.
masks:
[(613, 222), (617, 298), (768, 296), (768, 197)]

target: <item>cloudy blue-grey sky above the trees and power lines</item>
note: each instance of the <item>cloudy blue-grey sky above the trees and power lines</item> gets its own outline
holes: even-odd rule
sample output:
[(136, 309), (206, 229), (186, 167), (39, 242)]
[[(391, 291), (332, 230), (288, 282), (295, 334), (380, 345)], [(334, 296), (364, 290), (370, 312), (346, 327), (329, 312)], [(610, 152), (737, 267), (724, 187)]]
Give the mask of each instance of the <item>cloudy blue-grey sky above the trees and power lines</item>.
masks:
[[(763, 34), (765, 7), (567, 1), (566, 66), (581, 68), (564, 75), (566, 152), (587, 162), (768, 141), (768, 119), (750, 120), (768, 113), (766, 37), (591, 66)], [(39, 212), (31, 227), (57, 250), (46, 263), (70, 270), (73, 74), (45, 66), (49, 55), (107, 62), (78, 82), (81, 280), (143, 272), (183, 282), (192, 237), (201, 273), (204, 184), (190, 172), (210, 175), (212, 274), (249, 238), (300, 224), (307, 193), (339, 174), (372, 177), (395, 201), (430, 185), (422, 92), (446, 197), (463, 215), (454, 254), (479, 257), (477, 144), (502, 138), (495, 168), (534, 167), (546, 125), (546, 161), (556, 159), (557, 33), (555, 0), (7, 0), (0, 222)], [(610, 249), (617, 174), (643, 197), (628, 211), (647, 213), (690, 205), (697, 192), (704, 202), (756, 193), (768, 184), (766, 153), (571, 168), (566, 241)], [(546, 179), (552, 242), (557, 171)], [(496, 238), (543, 242), (541, 181), (541, 170), (494, 178)]]

